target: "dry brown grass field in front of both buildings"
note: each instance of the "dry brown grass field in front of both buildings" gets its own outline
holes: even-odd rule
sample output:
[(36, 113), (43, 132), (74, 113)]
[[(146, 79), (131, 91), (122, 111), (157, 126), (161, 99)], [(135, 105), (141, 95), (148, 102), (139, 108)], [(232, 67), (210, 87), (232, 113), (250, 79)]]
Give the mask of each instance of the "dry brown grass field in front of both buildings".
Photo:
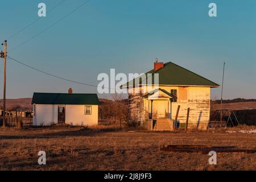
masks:
[[(217, 165), (209, 165), (207, 154), (159, 149), (167, 144), (254, 149), (256, 134), (127, 131), (114, 126), (0, 129), (0, 170), (256, 170), (256, 154), (220, 153)], [(38, 164), (40, 150), (47, 155), (43, 166)]]

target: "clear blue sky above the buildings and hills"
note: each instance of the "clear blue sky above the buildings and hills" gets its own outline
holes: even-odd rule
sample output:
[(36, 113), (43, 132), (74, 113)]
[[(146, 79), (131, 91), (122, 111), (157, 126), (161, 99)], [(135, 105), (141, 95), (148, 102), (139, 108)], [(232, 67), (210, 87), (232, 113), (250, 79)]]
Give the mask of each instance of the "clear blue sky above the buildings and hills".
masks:
[[(2, 1), (0, 40), (38, 18), (38, 3), (46, 3), (49, 10), (60, 1)], [(82, 2), (61, 3), (8, 40), (8, 48), (38, 34)], [(208, 15), (210, 2), (217, 4), (216, 18)], [(93, 85), (98, 84), (97, 75), (109, 73), (110, 68), (116, 73), (144, 73), (152, 69), (155, 57), (221, 84), (226, 61), (227, 99), (256, 98), (255, 48), (255, 0), (90, 0), (43, 34), (10, 51), (9, 56)], [(7, 98), (32, 97), (33, 92), (67, 92), (69, 87), (76, 93), (97, 93), (96, 88), (62, 81), (7, 60)], [(212, 98), (220, 98), (220, 89), (212, 89)]]

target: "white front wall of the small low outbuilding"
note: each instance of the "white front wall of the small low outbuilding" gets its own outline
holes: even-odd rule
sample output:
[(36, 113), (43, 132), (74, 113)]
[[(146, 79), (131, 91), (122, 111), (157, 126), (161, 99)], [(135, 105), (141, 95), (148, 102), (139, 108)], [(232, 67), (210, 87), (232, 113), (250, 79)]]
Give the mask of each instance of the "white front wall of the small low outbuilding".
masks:
[[(34, 104), (35, 105), (35, 104)], [(98, 125), (98, 105), (92, 106), (92, 114), (84, 114), (85, 105), (49, 105), (36, 104), (33, 107), (35, 113), (33, 125), (52, 125), (58, 123), (58, 106), (65, 106), (65, 123), (72, 125)]]

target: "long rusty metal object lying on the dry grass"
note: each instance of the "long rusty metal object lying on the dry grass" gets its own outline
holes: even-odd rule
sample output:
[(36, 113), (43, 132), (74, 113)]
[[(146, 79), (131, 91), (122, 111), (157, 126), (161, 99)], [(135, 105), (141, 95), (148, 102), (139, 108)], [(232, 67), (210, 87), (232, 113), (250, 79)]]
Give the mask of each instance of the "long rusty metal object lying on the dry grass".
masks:
[(228, 153), (256, 153), (256, 150), (247, 150), (235, 146), (208, 146), (208, 145), (168, 145), (161, 146), (160, 151), (168, 152), (202, 152), (208, 154), (210, 151)]

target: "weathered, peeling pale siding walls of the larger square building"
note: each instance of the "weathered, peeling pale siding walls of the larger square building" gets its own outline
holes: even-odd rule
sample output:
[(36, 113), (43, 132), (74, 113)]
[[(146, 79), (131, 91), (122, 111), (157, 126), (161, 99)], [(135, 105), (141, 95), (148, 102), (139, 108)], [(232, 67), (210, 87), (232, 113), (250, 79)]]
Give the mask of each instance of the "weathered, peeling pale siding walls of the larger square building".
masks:
[[(177, 102), (172, 102), (171, 105), (171, 117), (173, 119), (176, 115), (177, 106), (180, 105), (178, 120), (180, 123), (185, 123), (187, 108), (190, 107), (188, 127), (207, 128), (210, 116), (209, 87), (160, 86), (160, 88), (167, 90), (167, 92), (170, 92), (171, 89), (177, 89)], [(145, 90), (145, 88), (141, 89)], [(143, 92), (141, 94), (129, 94), (129, 113), (134, 121), (145, 121), (148, 118), (148, 108), (151, 108), (151, 103), (142, 98), (144, 94)]]

